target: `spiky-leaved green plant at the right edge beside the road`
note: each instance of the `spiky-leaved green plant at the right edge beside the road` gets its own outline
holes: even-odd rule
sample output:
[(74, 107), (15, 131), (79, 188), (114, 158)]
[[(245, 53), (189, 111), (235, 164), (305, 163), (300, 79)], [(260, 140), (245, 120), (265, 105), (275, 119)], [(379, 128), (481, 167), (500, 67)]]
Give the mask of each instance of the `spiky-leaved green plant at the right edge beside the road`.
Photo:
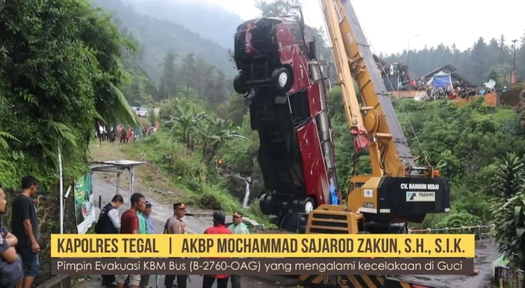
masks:
[[(494, 236), (498, 243), (499, 252), (504, 253), (512, 269), (525, 269), (525, 171), (522, 163), (515, 154), (507, 154), (499, 167), (498, 174), (506, 175), (509, 171), (520, 175), (513, 177), (497, 178), (497, 187), (503, 188), (494, 199), (491, 207), (494, 220), (491, 222), (495, 226)], [(515, 185), (516, 182), (519, 185)], [(501, 197), (504, 195), (505, 197)], [(525, 287), (525, 282), (522, 284)]]

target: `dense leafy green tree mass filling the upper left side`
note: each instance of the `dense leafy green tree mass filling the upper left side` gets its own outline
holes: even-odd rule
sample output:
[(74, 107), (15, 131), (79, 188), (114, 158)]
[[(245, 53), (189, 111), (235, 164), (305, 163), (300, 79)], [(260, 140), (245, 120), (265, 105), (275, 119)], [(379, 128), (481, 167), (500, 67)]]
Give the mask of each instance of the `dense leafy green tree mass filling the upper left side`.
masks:
[[(125, 80), (124, 51), (134, 53), (136, 47), (122, 37), (110, 15), (85, 0), (2, 4), (0, 179), (11, 199), (18, 179), (27, 174), (38, 178), (39, 188), (50, 191), (40, 198), (45, 213), (39, 213), (40, 223), (45, 223), (40, 246), (47, 250), (41, 261), (49, 263), (49, 234), (59, 231), (60, 211), (53, 205), (60, 198), (59, 147), (64, 178), (78, 179), (89, 171), (96, 120), (135, 123), (118, 87)], [(41, 281), (51, 276), (45, 266)]]

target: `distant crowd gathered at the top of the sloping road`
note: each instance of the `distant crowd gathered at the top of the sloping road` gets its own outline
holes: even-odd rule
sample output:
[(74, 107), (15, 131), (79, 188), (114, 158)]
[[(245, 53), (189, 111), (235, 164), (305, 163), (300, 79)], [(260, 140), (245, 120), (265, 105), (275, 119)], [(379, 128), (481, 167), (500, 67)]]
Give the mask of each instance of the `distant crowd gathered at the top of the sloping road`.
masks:
[(125, 127), (122, 124), (108, 127), (108, 125), (98, 122), (95, 137), (98, 138), (100, 146), (102, 146), (102, 141), (115, 142), (119, 140), (120, 144), (125, 144), (130, 140), (139, 141), (141, 137), (150, 136), (157, 131), (159, 131), (159, 123), (156, 122), (137, 127), (131, 127), (131, 125)]

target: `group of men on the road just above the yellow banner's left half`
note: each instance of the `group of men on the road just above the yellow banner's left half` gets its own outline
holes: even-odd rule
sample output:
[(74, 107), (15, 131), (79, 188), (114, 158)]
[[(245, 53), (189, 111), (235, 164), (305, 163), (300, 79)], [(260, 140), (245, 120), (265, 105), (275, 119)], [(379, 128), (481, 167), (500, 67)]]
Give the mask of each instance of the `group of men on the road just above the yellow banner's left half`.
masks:
[[(131, 207), (118, 215), (118, 208), (123, 204), (123, 198), (115, 195), (111, 202), (100, 211), (99, 220), (95, 228), (100, 234), (153, 234), (155, 231), (151, 218), (152, 204), (146, 201), (144, 195), (135, 193), (131, 196)], [(173, 216), (168, 218), (164, 225), (164, 234), (187, 234), (188, 229), (184, 222), (186, 205), (182, 202), (173, 204)], [(243, 223), (243, 214), (234, 212), (233, 224), (228, 228), (225, 226), (225, 214), (215, 211), (213, 214), (213, 226), (204, 231), (205, 234), (249, 234), (248, 227)], [(102, 286), (110, 287), (117, 282), (118, 288), (124, 288), (128, 284), (131, 288), (148, 288), (150, 275), (102, 275)], [(204, 275), (203, 288), (212, 288), (217, 282), (217, 288), (226, 288), (228, 280), (231, 279), (232, 288), (240, 288), (240, 275)], [(174, 283), (176, 280), (176, 283)], [(164, 285), (166, 288), (186, 288), (188, 275), (165, 275)]]

